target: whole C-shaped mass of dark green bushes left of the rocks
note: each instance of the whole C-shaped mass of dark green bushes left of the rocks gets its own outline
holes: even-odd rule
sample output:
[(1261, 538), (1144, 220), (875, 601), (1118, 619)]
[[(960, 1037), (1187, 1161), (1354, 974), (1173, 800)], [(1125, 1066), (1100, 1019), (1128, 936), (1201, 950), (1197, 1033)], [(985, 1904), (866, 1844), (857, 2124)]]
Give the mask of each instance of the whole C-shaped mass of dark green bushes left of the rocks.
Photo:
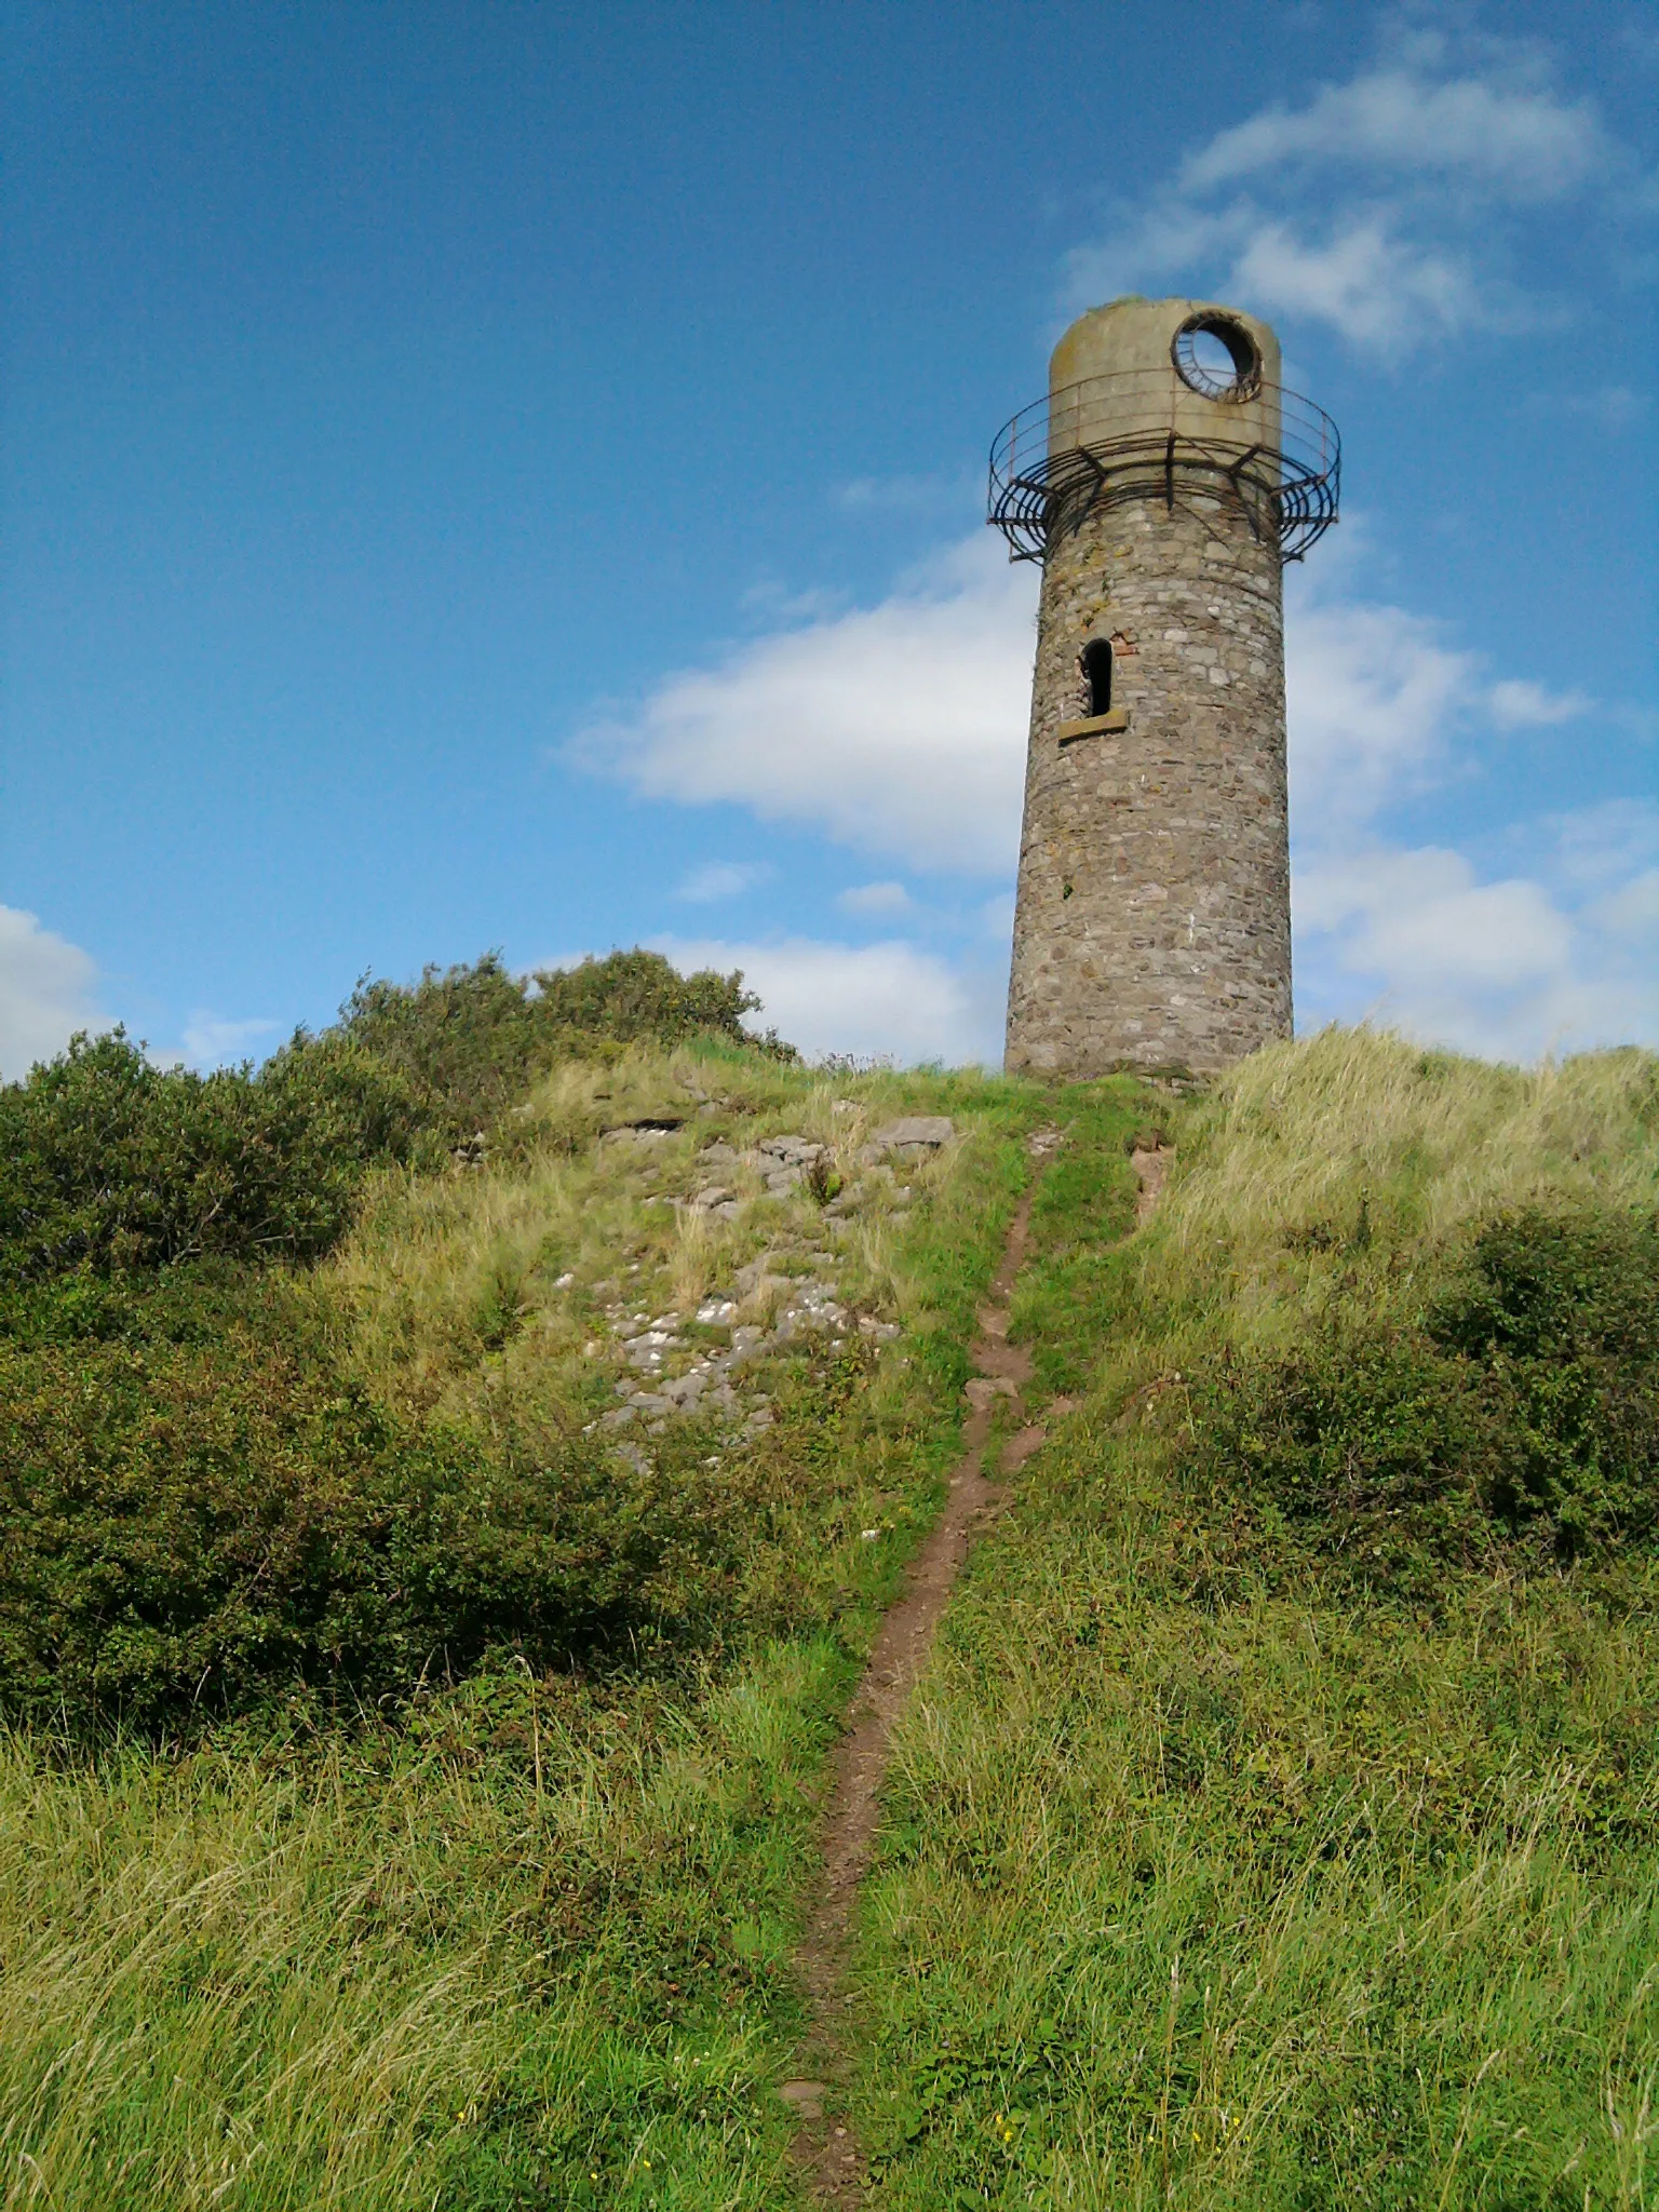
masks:
[(562, 1053), (739, 1040), (754, 1004), (657, 953), (538, 984), (484, 958), (361, 984), (259, 1071), (157, 1068), (117, 1031), (0, 1088), (0, 1708), (173, 1728), (708, 1615), (730, 1484), (394, 1411), (301, 1270), (374, 1166), (447, 1164)]

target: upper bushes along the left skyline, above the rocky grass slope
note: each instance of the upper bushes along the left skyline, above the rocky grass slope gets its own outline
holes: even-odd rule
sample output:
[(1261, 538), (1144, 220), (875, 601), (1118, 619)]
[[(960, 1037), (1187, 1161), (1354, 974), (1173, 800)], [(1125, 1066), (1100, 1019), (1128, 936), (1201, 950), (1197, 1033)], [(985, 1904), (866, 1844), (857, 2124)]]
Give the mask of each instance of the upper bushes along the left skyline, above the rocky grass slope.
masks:
[(573, 1051), (752, 1042), (741, 1018), (754, 1006), (741, 973), (679, 975), (661, 953), (533, 982), (491, 953), (414, 987), (358, 984), (334, 1029), (301, 1031), (259, 1071), (157, 1068), (119, 1029), (77, 1037), (0, 1086), (0, 1283), (316, 1259), (367, 1168), (436, 1166)]

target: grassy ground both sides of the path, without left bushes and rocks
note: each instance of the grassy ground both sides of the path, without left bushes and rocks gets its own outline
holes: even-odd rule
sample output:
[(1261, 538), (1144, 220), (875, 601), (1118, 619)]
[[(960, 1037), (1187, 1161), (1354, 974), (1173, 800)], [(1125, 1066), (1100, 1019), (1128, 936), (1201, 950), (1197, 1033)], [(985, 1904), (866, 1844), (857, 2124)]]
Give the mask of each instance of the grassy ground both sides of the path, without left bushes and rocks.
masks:
[[(595, 1141), (697, 1091), (726, 1104), (648, 1157)], [(504, 1639), (372, 1710), (270, 1683), (170, 1741), (0, 1739), (4, 2203), (799, 2201), (772, 2084), (825, 1752), (1048, 1119), (1013, 1329), (1066, 1405), (896, 1741), (852, 2015), (878, 2201), (1659, 2197), (1652, 1057), (1522, 1075), (1327, 1033), (1177, 1108), (617, 1046), (524, 1104), (482, 1170), (372, 1175), (334, 1256), (246, 1307), (303, 1310), (319, 1374), (484, 1486), (588, 1449), (606, 1283), (661, 1312), (830, 1234), (799, 1194), (653, 1203), (701, 1135), (852, 1164), (927, 1110), (964, 1141), (905, 1170), (907, 1219), (834, 1232), (902, 1323), (880, 1360), (783, 1360), (741, 1464), (697, 1420), (653, 1438), (688, 1535), (619, 1644), (531, 1672)], [(1130, 1237), (1157, 1126), (1177, 1170)], [(1531, 1259), (1544, 1349), (1491, 1349)]]

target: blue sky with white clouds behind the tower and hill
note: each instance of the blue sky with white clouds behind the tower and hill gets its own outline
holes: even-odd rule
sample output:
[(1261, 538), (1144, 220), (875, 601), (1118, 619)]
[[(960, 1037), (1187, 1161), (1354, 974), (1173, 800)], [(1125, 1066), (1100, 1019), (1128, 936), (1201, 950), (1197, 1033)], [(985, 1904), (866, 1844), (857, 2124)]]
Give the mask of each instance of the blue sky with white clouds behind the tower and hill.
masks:
[(1064, 323), (1340, 422), (1290, 573), (1298, 1026), (1659, 1042), (1646, 9), (4, 15), (0, 1071), (653, 942), (1000, 1051)]

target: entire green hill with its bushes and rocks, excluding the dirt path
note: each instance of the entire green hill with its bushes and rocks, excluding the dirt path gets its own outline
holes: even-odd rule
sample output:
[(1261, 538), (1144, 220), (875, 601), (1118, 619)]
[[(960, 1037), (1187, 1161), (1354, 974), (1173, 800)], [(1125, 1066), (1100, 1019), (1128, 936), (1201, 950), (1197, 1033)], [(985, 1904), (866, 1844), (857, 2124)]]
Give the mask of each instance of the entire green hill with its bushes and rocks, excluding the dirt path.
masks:
[(7, 1093), (7, 2201), (799, 2201), (827, 1747), (1057, 1126), (1048, 1442), (860, 1909), (878, 2201), (1646, 2203), (1659, 1064), (1053, 1093), (661, 991)]

